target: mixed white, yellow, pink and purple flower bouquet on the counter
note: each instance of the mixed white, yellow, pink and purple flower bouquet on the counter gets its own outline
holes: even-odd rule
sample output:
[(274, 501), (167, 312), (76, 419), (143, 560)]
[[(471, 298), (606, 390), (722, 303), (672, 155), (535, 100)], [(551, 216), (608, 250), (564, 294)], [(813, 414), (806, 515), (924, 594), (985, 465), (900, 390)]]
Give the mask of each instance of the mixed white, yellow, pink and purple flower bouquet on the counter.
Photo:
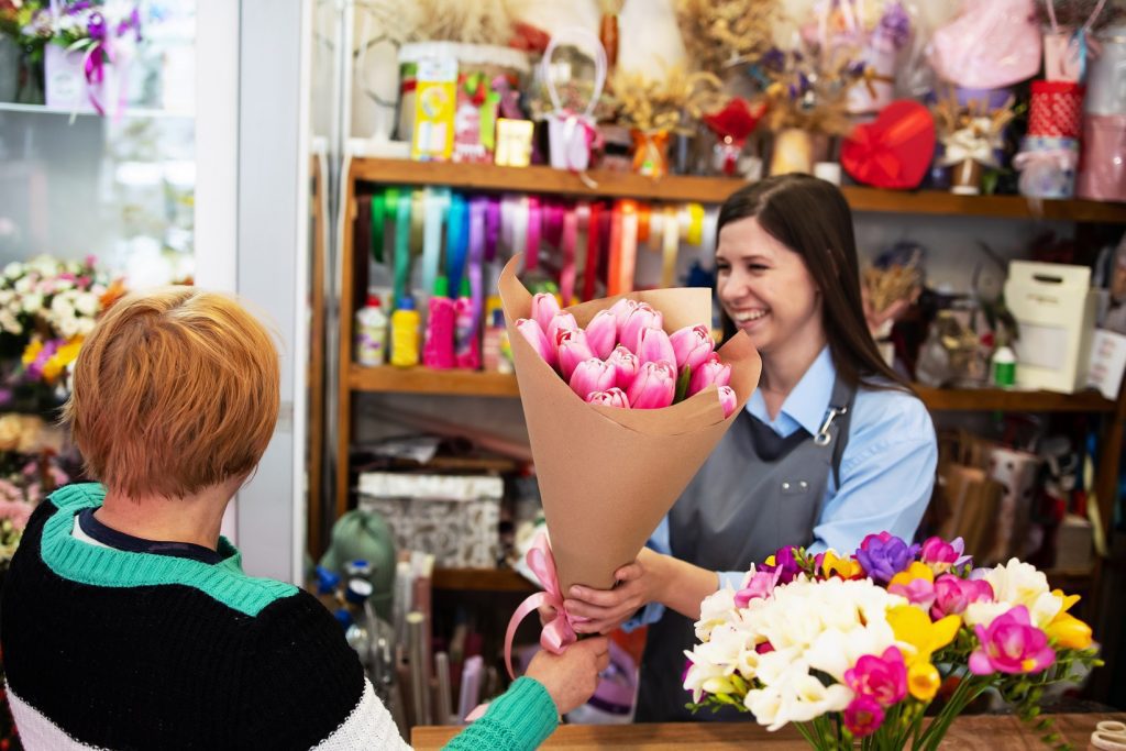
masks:
[(1101, 664), (1076, 600), (1016, 558), (973, 569), (960, 539), (881, 533), (843, 558), (787, 547), (704, 600), (685, 688), (694, 709), (794, 723), (816, 749), (878, 750), (937, 749), (992, 688), (1060, 744), (1044, 688)]

